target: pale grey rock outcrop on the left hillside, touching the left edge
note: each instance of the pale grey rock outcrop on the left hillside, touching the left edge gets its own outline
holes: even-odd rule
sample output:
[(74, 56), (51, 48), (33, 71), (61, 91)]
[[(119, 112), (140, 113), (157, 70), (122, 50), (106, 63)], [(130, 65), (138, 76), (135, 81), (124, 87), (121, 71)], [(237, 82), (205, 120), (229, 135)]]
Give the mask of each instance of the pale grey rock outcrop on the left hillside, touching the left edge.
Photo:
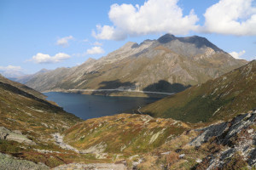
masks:
[(31, 139), (27, 139), (25, 135), (17, 131), (10, 131), (5, 127), (0, 127), (0, 139), (13, 140), (21, 144), (35, 145)]

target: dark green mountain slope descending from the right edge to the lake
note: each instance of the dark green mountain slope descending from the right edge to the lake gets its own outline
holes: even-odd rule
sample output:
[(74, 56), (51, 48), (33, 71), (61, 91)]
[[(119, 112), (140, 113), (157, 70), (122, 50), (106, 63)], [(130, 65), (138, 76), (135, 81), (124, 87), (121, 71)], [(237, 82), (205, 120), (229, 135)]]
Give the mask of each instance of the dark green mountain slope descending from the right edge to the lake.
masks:
[(141, 109), (183, 122), (228, 120), (256, 106), (256, 60)]

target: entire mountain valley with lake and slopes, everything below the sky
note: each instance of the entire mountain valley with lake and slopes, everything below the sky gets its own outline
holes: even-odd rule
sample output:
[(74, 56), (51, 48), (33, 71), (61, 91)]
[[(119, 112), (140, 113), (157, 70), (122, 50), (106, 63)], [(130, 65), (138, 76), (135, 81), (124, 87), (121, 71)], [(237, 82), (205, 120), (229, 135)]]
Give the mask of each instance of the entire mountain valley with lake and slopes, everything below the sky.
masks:
[(255, 80), (255, 60), (171, 34), (20, 77), (30, 88), (1, 76), (0, 168), (253, 169)]

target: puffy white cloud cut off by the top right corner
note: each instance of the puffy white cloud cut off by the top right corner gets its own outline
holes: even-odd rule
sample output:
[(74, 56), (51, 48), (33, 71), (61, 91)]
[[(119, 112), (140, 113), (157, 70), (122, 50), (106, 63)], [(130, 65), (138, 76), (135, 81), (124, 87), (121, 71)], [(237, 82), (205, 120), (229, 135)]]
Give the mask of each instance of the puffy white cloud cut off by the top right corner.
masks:
[(256, 8), (252, 3), (253, 0), (220, 0), (207, 8), (201, 31), (237, 36), (256, 35)]

